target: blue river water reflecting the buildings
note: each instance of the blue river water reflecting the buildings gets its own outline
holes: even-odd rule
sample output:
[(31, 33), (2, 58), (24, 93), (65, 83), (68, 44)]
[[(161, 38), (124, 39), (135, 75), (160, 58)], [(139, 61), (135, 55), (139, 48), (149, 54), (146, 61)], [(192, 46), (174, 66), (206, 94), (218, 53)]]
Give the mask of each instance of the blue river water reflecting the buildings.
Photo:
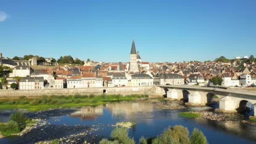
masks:
[[(209, 108), (209, 107), (208, 107)], [(135, 122), (136, 126), (129, 129), (129, 136), (139, 141), (159, 135), (169, 125), (183, 125), (191, 133), (199, 128), (208, 139), (209, 144), (255, 144), (256, 125), (238, 122), (211, 121), (205, 118), (185, 118), (177, 115), (184, 111), (203, 108), (180, 110), (160, 109), (154, 104), (143, 101), (123, 101), (97, 107), (56, 109), (44, 112), (25, 112), (27, 117), (45, 119), (47, 124), (33, 129), (23, 136), (11, 136), (0, 139), (0, 144), (30, 144), (38, 141), (49, 141), (68, 137), (66, 143), (75, 141), (83, 143), (99, 143), (109, 135), (117, 122)], [(213, 110), (209, 108), (209, 110)], [(16, 110), (1, 110), (0, 122), (8, 121), (8, 117)], [(225, 114), (242, 118), (246, 114)], [(65, 125), (67, 126), (65, 126)], [(83, 133), (80, 134), (79, 133)], [(85, 134), (86, 133), (86, 134)]]

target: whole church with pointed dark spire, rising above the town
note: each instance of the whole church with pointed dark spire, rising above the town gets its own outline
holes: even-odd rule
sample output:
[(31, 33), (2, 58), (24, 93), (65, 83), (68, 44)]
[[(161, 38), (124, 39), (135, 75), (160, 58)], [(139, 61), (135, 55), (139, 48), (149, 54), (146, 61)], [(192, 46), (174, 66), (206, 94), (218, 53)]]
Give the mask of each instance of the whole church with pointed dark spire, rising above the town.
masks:
[(132, 72), (139, 72), (139, 69), (142, 67), (141, 57), (139, 56), (139, 51), (136, 52), (135, 43), (131, 45), (131, 53), (130, 53), (130, 64), (128, 66), (128, 70)]

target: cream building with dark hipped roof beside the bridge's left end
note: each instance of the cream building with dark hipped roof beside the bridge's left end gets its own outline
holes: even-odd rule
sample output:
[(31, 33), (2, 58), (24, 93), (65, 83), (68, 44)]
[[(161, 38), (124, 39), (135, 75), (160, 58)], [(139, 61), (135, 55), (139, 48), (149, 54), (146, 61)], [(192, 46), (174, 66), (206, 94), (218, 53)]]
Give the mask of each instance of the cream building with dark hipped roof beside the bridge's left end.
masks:
[(160, 74), (160, 85), (184, 85), (184, 77), (177, 74)]

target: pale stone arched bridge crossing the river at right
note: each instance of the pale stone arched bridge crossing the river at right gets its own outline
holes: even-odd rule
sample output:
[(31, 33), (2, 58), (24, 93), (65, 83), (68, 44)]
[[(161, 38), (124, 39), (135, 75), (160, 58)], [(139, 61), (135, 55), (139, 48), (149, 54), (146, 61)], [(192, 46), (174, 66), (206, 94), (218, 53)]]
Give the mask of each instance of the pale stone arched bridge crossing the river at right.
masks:
[(256, 92), (235, 89), (221, 89), (189, 85), (157, 85), (164, 89), (165, 94), (171, 99), (188, 100), (187, 105), (202, 106), (213, 104), (213, 96), (219, 98), (219, 112), (241, 112), (247, 109), (249, 101), (254, 107), (256, 117)]

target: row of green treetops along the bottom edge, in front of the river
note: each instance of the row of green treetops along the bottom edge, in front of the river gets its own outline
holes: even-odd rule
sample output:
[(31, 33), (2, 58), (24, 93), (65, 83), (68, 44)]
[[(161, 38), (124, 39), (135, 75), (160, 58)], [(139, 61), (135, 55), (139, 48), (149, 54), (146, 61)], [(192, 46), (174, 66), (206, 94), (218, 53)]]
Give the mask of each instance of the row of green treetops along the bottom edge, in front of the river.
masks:
[[(100, 144), (135, 144), (133, 138), (128, 136), (127, 128), (116, 127), (111, 132), (111, 140), (102, 139)], [(146, 139), (141, 137), (139, 144), (208, 144), (203, 132), (194, 128), (191, 136), (189, 131), (182, 125), (168, 127), (163, 133), (157, 137)]]

